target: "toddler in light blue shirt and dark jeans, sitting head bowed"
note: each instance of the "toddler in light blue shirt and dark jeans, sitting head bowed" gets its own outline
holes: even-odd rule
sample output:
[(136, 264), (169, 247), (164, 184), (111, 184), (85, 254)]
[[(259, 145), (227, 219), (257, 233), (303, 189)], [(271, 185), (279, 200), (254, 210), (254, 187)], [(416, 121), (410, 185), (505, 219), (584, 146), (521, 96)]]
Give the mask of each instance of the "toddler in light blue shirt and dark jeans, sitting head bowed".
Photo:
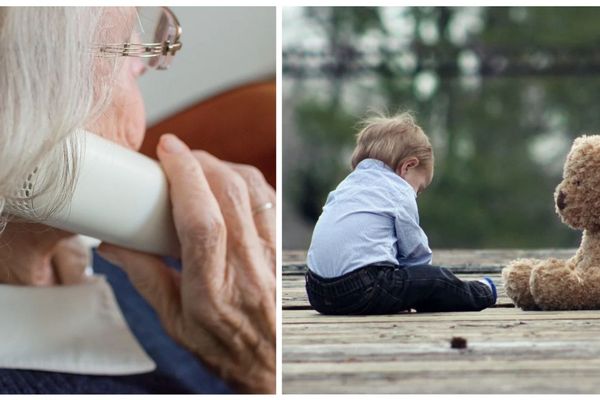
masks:
[(306, 291), (323, 314), (479, 311), (489, 278), (462, 281), (431, 266), (416, 198), (433, 178), (428, 137), (409, 113), (366, 119), (353, 171), (329, 193), (308, 250)]

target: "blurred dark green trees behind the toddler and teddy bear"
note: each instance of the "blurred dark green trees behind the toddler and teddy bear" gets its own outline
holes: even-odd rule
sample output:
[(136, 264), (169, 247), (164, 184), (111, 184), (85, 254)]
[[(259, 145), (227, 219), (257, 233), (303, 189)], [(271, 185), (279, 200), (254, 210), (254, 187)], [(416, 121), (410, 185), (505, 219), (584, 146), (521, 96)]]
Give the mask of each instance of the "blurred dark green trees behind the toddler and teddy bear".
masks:
[[(318, 95), (294, 89), (306, 157), (284, 190), (305, 218), (349, 172), (358, 118), (386, 104), (413, 110), (434, 145), (419, 199), (432, 247), (577, 244), (552, 193), (572, 138), (600, 127), (600, 10), (411, 7), (392, 26), (389, 9), (305, 13), (325, 48), (284, 48), (284, 76), (329, 82)], [(394, 24), (410, 29), (398, 37)]]

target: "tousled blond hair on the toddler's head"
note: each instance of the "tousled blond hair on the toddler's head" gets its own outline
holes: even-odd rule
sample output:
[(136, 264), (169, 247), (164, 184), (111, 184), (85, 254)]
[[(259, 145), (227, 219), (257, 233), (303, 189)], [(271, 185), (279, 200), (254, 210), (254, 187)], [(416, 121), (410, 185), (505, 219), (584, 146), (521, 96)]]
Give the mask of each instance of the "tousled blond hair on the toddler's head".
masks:
[(410, 112), (392, 116), (375, 113), (363, 119), (360, 127), (352, 154), (352, 169), (367, 158), (383, 161), (393, 170), (409, 157), (416, 157), (420, 166), (433, 165), (429, 138)]

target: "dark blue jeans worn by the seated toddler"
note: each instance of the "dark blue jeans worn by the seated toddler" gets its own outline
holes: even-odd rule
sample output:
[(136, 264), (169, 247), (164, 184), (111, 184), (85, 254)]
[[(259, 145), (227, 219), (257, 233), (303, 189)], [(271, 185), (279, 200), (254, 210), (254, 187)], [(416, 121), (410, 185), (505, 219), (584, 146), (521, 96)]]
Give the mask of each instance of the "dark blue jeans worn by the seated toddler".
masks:
[(306, 293), (315, 310), (336, 315), (480, 311), (495, 303), (486, 284), (462, 281), (448, 269), (431, 265), (371, 264), (337, 278), (322, 278), (309, 270)]

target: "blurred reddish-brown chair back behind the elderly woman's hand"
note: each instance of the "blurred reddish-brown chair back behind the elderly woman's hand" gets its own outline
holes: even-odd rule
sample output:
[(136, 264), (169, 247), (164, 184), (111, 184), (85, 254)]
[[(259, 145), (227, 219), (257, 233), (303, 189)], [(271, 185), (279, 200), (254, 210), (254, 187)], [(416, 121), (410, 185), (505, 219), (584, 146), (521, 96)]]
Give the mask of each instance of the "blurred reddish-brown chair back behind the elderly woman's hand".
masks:
[(141, 152), (156, 158), (163, 133), (174, 133), (192, 149), (261, 170), (275, 187), (275, 80), (245, 84), (202, 100), (153, 126)]

